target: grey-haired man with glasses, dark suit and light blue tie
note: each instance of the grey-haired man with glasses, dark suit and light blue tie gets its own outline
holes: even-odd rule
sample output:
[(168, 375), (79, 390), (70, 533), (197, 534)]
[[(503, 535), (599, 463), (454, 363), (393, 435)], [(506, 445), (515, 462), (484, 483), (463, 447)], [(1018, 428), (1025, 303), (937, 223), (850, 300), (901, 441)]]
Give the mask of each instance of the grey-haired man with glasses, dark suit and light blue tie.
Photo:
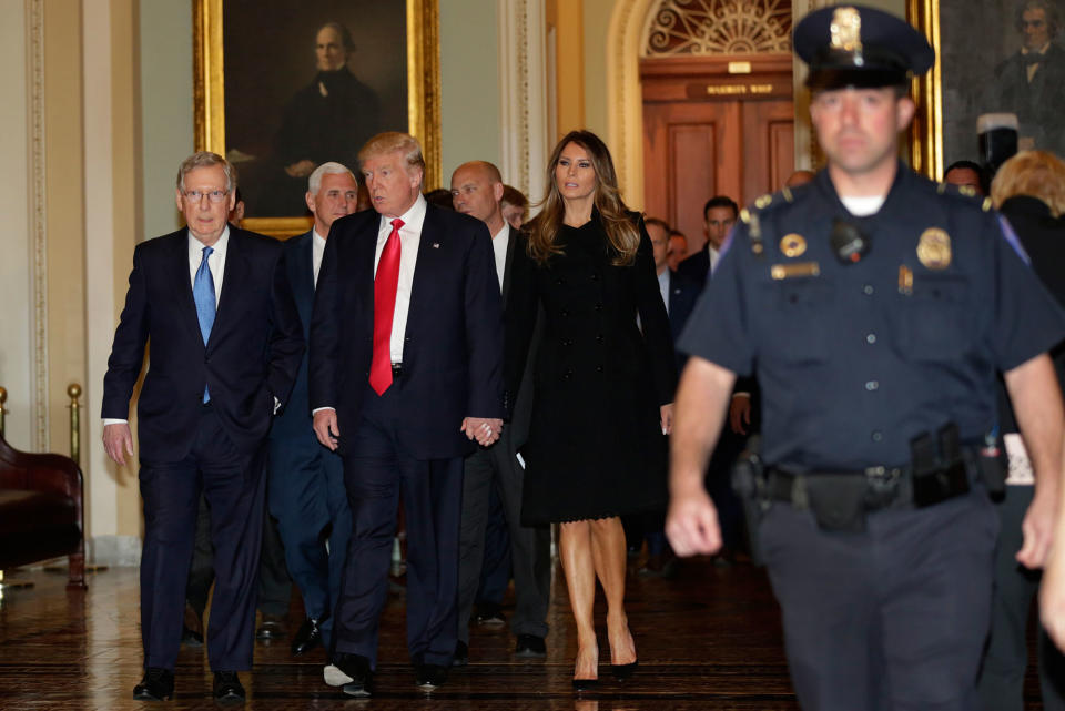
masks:
[(181, 164), (176, 197), (187, 230), (136, 246), (103, 380), (104, 448), (124, 465), (133, 454), (130, 397), (151, 339), (138, 403), (145, 668), (133, 691), (139, 699), (173, 695), (201, 489), (215, 549), (207, 632), (215, 698), (242, 700), (236, 672), (252, 668), (264, 444), (304, 342), (281, 243), (226, 224), (235, 182), (214, 153)]

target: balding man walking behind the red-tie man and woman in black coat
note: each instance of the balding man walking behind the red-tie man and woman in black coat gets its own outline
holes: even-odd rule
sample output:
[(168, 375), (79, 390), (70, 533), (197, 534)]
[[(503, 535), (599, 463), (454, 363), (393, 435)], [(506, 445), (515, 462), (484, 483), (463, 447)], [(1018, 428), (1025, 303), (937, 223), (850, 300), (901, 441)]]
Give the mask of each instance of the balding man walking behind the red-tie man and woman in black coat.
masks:
[[(503, 176), (491, 163), (473, 161), (455, 169), (452, 199), (455, 210), (484, 221), (491, 234), (495, 272), (506, 302), (515, 250), (526, 247), (526, 237), (503, 219)], [(530, 358), (531, 360), (531, 358)], [(551, 534), (546, 526), (521, 526), (521, 485), (525, 469), (518, 449), (528, 436), (531, 416), (531, 370), (523, 378), (513, 405), (510, 423), (498, 443), (466, 457), (463, 477), (463, 524), (458, 561), (458, 639), (456, 663), (465, 663), (469, 644), (469, 618), (485, 558), (485, 530), (491, 514), (491, 489), (499, 494), (509, 531), (514, 566), (515, 611), (510, 629), (517, 638), (515, 654), (547, 656), (547, 608), (551, 588)]]

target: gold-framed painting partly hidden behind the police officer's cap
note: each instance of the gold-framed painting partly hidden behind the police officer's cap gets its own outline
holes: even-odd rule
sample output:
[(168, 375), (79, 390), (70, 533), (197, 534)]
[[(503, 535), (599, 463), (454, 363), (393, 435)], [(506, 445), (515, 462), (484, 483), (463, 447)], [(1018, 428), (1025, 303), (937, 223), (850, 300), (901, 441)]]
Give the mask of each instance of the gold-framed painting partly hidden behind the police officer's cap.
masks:
[(1065, 0), (909, 0), (907, 14), (936, 54), (916, 82), (914, 169), (980, 162), (988, 113), (1016, 114), (1021, 150), (1065, 155)]

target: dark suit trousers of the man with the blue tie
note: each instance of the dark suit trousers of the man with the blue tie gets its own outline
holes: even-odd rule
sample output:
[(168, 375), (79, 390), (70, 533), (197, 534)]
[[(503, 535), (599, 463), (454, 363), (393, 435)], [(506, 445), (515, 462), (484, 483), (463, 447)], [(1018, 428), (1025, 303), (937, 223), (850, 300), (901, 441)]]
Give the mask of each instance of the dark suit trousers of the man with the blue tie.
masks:
[(184, 459), (141, 457), (144, 547), (141, 636), (144, 666), (173, 670), (181, 643), (185, 583), (203, 491), (211, 507), (215, 588), (207, 654), (214, 671), (252, 668), (255, 598), (262, 547), (265, 447), (241, 451), (210, 406)]

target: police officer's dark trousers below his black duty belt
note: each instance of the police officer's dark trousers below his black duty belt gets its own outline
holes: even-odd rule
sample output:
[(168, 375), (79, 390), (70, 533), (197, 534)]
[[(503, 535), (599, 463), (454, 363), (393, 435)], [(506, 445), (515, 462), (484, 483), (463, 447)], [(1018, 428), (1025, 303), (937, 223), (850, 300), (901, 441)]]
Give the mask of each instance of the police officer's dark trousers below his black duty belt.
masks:
[(823, 532), (774, 504), (760, 532), (804, 711), (973, 711), (998, 531), (982, 489)]

